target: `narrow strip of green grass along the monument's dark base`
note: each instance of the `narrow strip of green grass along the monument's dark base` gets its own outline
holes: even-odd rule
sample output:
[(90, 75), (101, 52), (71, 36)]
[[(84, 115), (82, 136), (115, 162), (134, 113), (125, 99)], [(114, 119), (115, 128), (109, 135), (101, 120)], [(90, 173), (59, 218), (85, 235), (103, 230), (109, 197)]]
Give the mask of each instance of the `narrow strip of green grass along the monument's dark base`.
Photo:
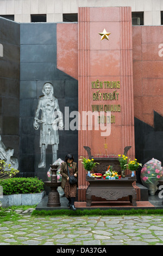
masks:
[(34, 210), (32, 216), (109, 216), (109, 215), (163, 215), (163, 209), (131, 209), (131, 210), (76, 210), (70, 211), (68, 209), (62, 210)]

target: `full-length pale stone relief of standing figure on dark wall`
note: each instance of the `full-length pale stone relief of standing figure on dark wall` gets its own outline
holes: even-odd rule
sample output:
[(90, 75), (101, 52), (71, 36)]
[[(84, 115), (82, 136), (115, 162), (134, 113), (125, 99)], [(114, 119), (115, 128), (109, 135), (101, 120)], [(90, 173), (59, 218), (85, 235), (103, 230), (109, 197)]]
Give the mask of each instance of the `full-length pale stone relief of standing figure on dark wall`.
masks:
[[(42, 88), (43, 95), (39, 97), (39, 103), (36, 108), (34, 118), (34, 129), (40, 130), (40, 148), (41, 159), (39, 168), (46, 167), (46, 148), (47, 145), (52, 145), (53, 160), (57, 160), (57, 150), (59, 144), (58, 129), (63, 129), (64, 123), (62, 113), (60, 112), (58, 100), (54, 97), (52, 83), (46, 82)], [(41, 117), (39, 117), (41, 113)], [(40, 124), (39, 124), (40, 123)]]

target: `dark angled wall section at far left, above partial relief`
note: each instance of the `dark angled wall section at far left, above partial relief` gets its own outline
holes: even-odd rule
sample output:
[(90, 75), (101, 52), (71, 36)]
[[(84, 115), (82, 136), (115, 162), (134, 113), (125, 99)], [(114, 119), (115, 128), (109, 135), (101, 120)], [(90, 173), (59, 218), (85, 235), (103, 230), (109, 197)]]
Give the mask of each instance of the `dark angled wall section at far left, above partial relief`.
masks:
[(0, 133), (19, 159), (20, 24), (0, 18), (0, 28)]

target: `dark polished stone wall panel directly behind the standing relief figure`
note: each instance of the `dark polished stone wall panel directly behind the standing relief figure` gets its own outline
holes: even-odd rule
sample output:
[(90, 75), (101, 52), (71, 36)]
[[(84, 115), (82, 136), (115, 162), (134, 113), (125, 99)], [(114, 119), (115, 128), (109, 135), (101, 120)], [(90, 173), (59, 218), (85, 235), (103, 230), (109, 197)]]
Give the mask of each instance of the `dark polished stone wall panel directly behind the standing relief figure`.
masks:
[[(38, 168), (40, 129), (33, 127), (39, 96), (43, 84), (51, 82), (65, 118), (65, 106), (78, 110), (78, 81), (57, 69), (56, 23), (22, 23), (20, 31), (20, 168), (22, 175), (47, 180), (52, 145), (46, 150), (46, 168)], [(78, 131), (59, 131), (58, 158), (65, 160), (67, 153), (78, 161)]]

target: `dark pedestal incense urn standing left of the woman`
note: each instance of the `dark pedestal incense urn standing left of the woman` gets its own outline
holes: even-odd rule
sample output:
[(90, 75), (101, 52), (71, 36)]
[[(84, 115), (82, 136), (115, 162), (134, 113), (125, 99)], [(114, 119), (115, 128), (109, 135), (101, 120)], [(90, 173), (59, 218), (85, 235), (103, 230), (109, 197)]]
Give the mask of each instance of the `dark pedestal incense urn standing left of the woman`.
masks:
[(61, 181), (57, 180), (57, 168), (58, 165), (51, 166), (51, 181), (44, 181), (45, 185), (51, 187), (51, 192), (48, 193), (48, 207), (57, 207), (60, 206), (60, 196), (57, 191), (57, 188), (61, 185)]

